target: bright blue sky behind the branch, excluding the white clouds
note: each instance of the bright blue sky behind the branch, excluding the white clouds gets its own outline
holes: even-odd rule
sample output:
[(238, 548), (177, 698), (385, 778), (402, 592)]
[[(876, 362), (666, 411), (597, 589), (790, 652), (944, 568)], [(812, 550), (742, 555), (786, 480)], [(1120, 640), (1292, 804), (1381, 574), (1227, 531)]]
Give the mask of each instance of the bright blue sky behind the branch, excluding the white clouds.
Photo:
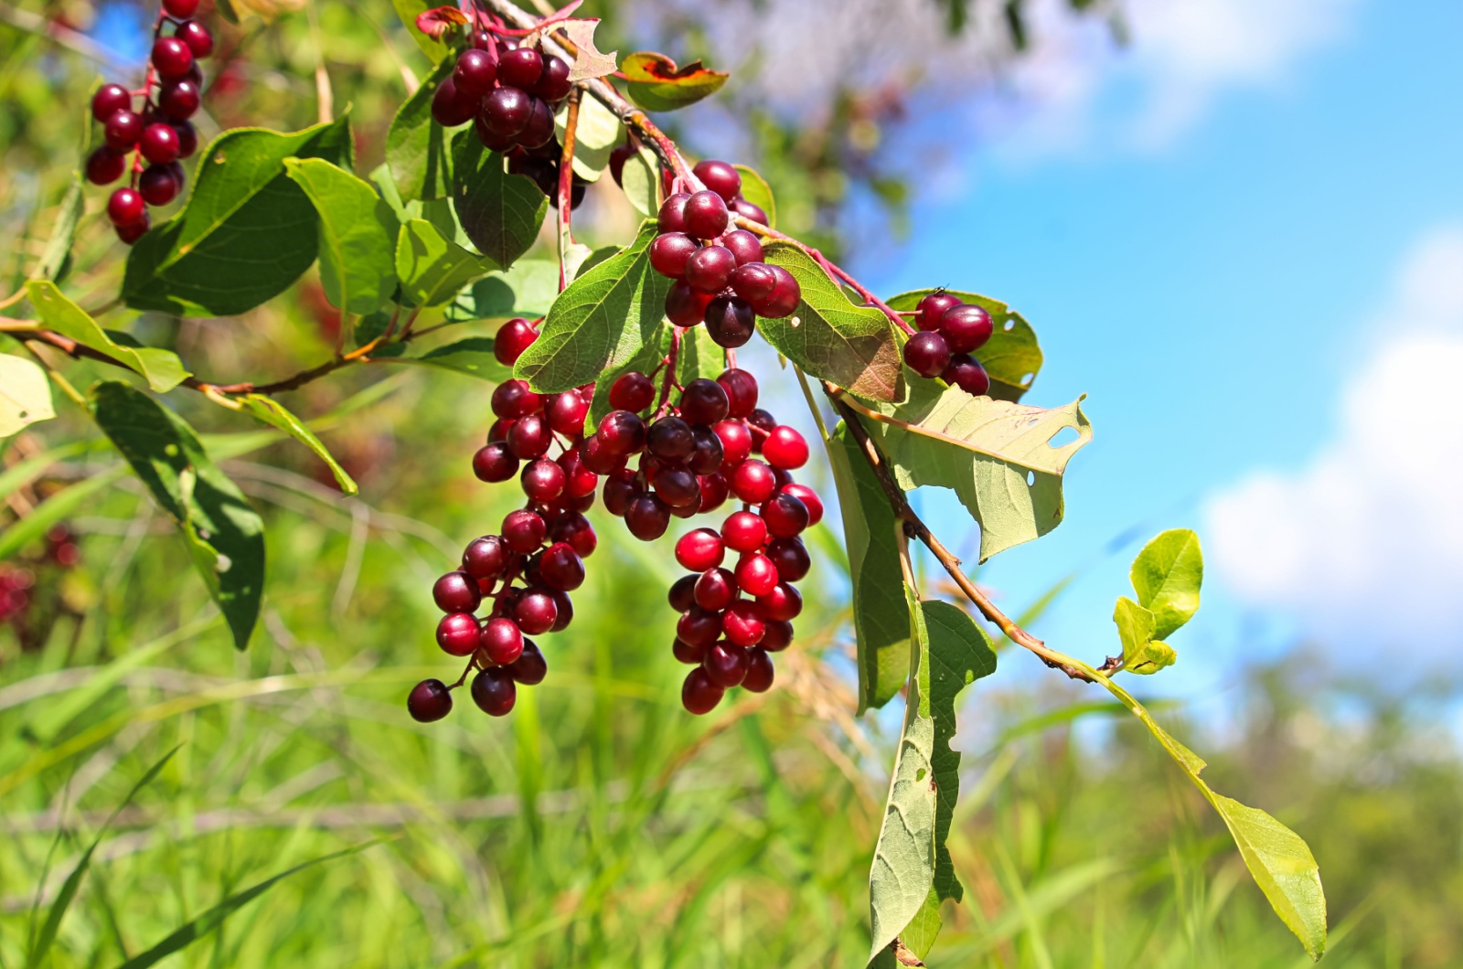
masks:
[[(900, 258), (859, 266), (879, 291), (947, 284), (1009, 302), (1046, 351), (1027, 403), (1088, 394), (1096, 438), (1069, 465), (1065, 523), (980, 574), (1020, 610), (1083, 565), (1037, 632), (1087, 659), (1116, 651), (1112, 603), (1138, 547), (1105, 546), (1135, 525), (1208, 540), (1206, 508), (1246, 476), (1304, 474), (1344, 436), (1339, 401), (1365, 394), (1419, 240), (1463, 225), (1463, 4), (1290, 6), (1302, 19), (1325, 7), (1327, 29), (1233, 83), (1208, 78), (1178, 120), (1150, 123), (1179, 81), (1121, 63), (1144, 59), (1141, 40), (1087, 69), (1075, 107), (1011, 111), (919, 203)], [(960, 511), (948, 493), (922, 501)], [(1210, 569), (1204, 609), (1173, 637), (1181, 662), (1154, 689), (1197, 691), (1334, 632), (1308, 610), (1324, 594), (1236, 596), (1241, 569), (1242, 549)], [(1454, 619), (1441, 622), (1456, 634)]]

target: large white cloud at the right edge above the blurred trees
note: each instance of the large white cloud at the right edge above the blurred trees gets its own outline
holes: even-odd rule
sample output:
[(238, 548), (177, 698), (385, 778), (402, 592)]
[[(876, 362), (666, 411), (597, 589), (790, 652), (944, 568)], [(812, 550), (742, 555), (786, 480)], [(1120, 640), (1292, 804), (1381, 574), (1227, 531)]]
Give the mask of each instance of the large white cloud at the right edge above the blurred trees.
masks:
[(1371, 332), (1387, 334), (1304, 470), (1207, 506), (1214, 572), (1328, 646), (1463, 644), (1463, 228), (1423, 239)]

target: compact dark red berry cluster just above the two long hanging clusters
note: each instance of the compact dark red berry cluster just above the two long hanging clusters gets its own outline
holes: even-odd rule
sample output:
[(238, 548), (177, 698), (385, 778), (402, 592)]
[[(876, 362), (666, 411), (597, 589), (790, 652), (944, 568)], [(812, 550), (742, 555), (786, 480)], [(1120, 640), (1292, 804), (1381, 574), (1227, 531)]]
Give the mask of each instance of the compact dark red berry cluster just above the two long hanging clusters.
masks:
[(723, 347), (740, 347), (756, 331), (756, 316), (778, 319), (797, 309), (802, 290), (787, 269), (762, 262), (762, 243), (733, 228), (732, 212), (767, 224), (767, 214), (742, 198), (742, 176), (724, 161), (693, 170), (707, 187), (676, 192), (660, 206), (660, 234), (650, 244), (655, 272), (676, 280), (666, 316), (677, 326), (705, 322)]

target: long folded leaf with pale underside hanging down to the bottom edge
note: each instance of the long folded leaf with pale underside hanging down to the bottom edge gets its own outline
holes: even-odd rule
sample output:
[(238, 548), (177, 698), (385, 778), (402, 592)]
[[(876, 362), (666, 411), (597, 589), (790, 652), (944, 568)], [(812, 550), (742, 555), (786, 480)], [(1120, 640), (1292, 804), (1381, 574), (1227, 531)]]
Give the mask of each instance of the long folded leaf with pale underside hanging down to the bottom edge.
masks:
[(925, 947), (914, 950), (923, 957), (935, 940), (938, 900), (961, 896), (945, 849), (960, 793), (960, 754), (949, 749), (955, 697), (996, 667), (989, 637), (969, 615), (948, 603), (922, 603), (903, 588), (914, 648), (904, 732), (869, 872), (870, 962), (916, 919), (911, 938)]

